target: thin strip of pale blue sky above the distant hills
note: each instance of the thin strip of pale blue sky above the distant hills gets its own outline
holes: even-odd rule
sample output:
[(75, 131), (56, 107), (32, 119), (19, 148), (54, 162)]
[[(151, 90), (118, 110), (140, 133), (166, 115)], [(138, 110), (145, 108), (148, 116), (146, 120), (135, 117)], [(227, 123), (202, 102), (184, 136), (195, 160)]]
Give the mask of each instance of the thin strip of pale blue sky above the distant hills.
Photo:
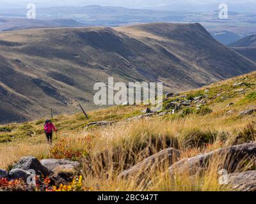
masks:
[(0, 0), (1, 8), (19, 8), (28, 3), (35, 3), (38, 7), (48, 6), (124, 6), (128, 8), (154, 8), (161, 6), (184, 4), (214, 4), (214, 3), (255, 3), (256, 0)]

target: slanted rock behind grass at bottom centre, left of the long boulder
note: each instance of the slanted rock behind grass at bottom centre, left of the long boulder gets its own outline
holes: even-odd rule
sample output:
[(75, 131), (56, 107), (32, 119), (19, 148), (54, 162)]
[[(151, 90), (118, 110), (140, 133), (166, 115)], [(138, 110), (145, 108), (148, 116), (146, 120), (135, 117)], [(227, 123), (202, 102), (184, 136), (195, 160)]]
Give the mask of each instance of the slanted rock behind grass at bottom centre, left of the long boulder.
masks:
[(148, 175), (150, 171), (155, 171), (157, 167), (164, 165), (166, 163), (173, 164), (175, 161), (179, 159), (180, 151), (173, 148), (168, 148), (161, 150), (156, 154), (144, 159), (140, 163), (132, 166), (128, 170), (122, 171), (118, 177), (128, 178), (131, 177), (141, 177), (143, 175)]

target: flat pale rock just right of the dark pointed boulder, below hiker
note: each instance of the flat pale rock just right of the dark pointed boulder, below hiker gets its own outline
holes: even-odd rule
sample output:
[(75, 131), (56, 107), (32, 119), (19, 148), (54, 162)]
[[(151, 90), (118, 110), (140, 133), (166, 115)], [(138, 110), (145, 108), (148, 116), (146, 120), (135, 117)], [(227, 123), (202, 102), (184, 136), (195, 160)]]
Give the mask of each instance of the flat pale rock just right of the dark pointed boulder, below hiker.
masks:
[(42, 159), (40, 163), (54, 173), (57, 171), (75, 171), (79, 166), (79, 162), (70, 161), (68, 159)]

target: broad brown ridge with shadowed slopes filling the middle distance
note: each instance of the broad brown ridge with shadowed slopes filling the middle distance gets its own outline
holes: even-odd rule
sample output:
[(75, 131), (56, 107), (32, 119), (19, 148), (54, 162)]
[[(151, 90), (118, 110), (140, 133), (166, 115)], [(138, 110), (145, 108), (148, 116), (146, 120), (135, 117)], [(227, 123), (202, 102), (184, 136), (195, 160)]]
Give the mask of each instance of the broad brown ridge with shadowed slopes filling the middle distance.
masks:
[(93, 105), (93, 85), (163, 82), (184, 91), (256, 70), (200, 24), (29, 29), (0, 33), (0, 122)]

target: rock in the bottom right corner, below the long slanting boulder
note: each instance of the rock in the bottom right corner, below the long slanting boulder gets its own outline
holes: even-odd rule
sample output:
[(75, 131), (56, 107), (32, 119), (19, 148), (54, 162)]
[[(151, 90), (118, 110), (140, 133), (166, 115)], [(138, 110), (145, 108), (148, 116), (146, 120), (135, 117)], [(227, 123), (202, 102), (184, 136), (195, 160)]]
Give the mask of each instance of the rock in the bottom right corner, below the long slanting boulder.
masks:
[(256, 191), (256, 171), (229, 174), (228, 184), (236, 191)]

